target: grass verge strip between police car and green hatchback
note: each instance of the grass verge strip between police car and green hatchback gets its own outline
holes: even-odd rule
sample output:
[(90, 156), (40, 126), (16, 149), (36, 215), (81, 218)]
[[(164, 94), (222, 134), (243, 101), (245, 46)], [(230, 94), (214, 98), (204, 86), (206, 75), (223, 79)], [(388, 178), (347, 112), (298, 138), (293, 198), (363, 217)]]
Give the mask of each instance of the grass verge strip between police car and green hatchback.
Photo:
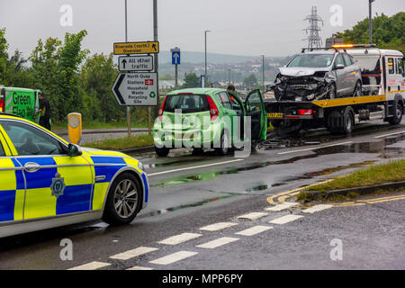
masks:
[(103, 150), (125, 150), (130, 148), (152, 146), (153, 144), (153, 137), (146, 134), (116, 139), (99, 140), (92, 143), (87, 143), (83, 146), (88, 148), (99, 148)]

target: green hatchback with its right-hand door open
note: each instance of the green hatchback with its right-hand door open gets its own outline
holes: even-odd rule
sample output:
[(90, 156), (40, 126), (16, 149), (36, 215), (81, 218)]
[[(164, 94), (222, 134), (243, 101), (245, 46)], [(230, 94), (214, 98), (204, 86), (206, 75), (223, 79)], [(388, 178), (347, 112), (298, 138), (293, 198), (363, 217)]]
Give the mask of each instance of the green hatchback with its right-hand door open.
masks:
[(225, 155), (229, 148), (266, 139), (267, 115), (260, 91), (253, 90), (243, 102), (220, 88), (189, 88), (166, 95), (153, 127), (157, 156), (171, 148), (214, 148)]

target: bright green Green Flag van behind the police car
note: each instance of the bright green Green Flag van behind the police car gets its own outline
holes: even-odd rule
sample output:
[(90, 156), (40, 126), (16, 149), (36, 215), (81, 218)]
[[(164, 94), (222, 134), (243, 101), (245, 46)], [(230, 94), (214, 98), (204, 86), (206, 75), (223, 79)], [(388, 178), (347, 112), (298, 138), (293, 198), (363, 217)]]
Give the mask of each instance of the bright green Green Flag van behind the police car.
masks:
[(0, 91), (0, 112), (36, 121), (33, 115), (40, 107), (40, 90), (0, 86)]

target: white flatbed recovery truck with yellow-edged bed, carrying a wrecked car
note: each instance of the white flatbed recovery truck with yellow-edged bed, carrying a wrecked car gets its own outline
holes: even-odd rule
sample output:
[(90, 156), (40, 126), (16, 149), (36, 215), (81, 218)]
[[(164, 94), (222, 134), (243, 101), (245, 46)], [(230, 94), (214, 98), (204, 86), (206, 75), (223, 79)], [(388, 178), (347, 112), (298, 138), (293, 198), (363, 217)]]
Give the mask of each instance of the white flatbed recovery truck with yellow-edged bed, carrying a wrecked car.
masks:
[(402, 53), (390, 49), (347, 49), (347, 53), (361, 68), (362, 94), (314, 101), (267, 100), (267, 119), (279, 135), (321, 127), (349, 134), (355, 124), (376, 119), (401, 123), (405, 104)]

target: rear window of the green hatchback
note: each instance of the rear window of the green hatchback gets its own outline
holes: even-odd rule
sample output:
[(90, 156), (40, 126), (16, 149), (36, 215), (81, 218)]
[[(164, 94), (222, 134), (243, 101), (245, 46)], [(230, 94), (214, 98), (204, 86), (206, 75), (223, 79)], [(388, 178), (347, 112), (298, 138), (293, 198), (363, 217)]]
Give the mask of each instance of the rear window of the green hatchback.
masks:
[(210, 104), (205, 95), (177, 94), (167, 95), (165, 112), (175, 112), (181, 109), (182, 113), (210, 111)]

